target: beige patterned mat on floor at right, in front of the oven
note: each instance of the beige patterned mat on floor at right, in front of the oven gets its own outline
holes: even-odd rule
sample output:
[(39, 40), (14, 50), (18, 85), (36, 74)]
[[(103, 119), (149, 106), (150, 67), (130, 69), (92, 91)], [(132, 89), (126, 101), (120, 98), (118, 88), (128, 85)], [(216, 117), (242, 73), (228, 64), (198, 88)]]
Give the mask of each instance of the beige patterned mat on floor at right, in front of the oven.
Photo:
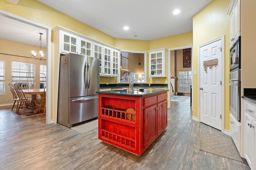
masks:
[(232, 138), (201, 133), (200, 150), (243, 162)]

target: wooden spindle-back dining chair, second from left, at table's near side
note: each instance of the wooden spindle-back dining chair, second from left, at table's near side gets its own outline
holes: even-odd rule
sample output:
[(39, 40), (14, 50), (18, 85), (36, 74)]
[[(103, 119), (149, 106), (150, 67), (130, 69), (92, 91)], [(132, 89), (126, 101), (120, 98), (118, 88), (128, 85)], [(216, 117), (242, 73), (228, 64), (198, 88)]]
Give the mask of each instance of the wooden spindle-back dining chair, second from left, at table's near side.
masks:
[[(36, 104), (36, 99), (27, 98), (18, 83), (15, 83), (14, 87), (15, 87), (15, 91), (20, 99), (19, 100), (20, 104), (18, 105), (18, 109), (16, 111), (17, 113), (19, 112), (20, 108), (22, 108), (22, 115), (24, 114), (25, 109), (34, 109), (34, 108), (37, 109), (38, 108), (38, 106)], [(32, 107), (32, 102), (34, 103), (34, 105), (36, 107)]]

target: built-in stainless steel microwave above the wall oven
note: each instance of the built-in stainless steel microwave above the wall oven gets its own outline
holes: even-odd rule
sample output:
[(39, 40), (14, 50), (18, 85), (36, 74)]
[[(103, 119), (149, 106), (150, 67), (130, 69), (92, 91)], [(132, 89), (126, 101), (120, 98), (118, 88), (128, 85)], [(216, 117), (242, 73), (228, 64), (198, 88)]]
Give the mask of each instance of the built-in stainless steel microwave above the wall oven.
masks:
[(241, 36), (230, 49), (230, 72), (241, 69)]

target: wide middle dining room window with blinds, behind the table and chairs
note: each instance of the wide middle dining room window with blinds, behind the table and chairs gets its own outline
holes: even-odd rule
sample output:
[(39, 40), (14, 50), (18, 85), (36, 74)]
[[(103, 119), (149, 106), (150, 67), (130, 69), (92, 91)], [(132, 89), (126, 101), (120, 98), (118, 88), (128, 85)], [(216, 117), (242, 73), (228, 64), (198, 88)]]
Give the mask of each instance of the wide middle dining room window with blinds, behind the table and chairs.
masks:
[(35, 64), (12, 62), (12, 84), (35, 84)]

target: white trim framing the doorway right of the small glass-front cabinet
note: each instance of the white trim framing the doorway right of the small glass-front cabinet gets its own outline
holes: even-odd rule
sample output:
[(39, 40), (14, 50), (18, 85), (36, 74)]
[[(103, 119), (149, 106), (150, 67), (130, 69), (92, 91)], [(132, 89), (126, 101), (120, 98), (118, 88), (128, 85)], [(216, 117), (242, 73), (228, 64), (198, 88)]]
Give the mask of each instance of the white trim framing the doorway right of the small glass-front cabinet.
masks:
[[(193, 45), (188, 45), (188, 46), (182, 46), (182, 47), (175, 47), (175, 48), (170, 48), (168, 49), (168, 100), (167, 100), (167, 107), (170, 108), (171, 107), (171, 98), (170, 98), (170, 92), (171, 92), (171, 87), (170, 87), (170, 83), (171, 83), (171, 51), (174, 50), (181, 50), (181, 49), (188, 49), (191, 48), (191, 61), (193, 60)], [(193, 65), (191, 63), (191, 70), (193, 70)], [(193, 78), (192, 78), (192, 84), (193, 84)], [(193, 94), (192, 94), (193, 95)], [(192, 97), (192, 96), (191, 96)], [(193, 105), (192, 105), (192, 111), (193, 111)]]

